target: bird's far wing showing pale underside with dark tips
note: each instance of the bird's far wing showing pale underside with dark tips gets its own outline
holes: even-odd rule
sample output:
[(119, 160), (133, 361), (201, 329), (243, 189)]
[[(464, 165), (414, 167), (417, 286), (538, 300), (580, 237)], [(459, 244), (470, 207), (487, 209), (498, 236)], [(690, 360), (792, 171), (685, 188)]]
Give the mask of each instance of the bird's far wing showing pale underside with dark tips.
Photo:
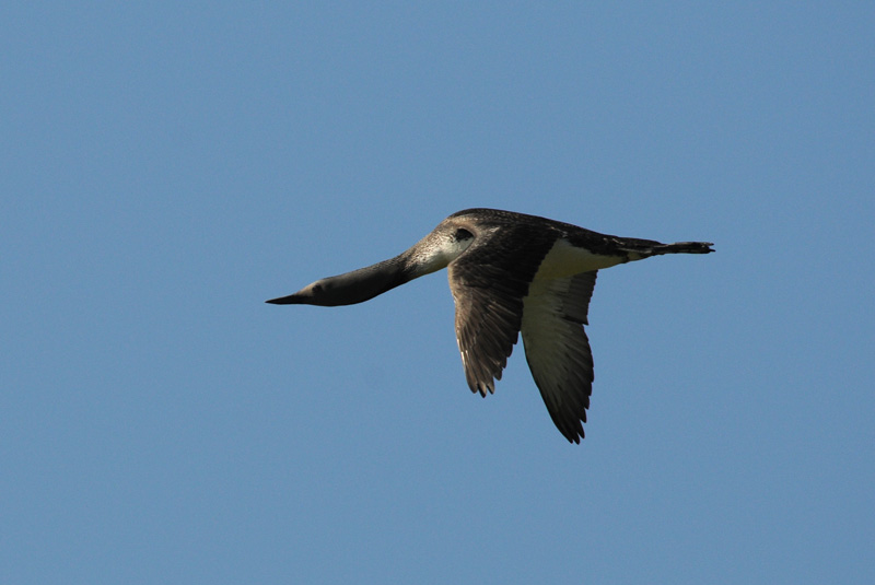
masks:
[(593, 352), (587, 323), (596, 271), (533, 284), (525, 299), (523, 343), (532, 377), (557, 429), (583, 438), (593, 390)]

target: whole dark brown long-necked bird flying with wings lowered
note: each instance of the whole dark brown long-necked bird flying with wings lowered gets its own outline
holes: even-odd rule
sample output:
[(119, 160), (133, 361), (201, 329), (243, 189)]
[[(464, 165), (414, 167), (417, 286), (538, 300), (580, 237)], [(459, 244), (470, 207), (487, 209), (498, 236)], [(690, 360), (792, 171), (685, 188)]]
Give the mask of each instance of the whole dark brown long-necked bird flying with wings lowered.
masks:
[(580, 443), (593, 384), (583, 325), (597, 271), (663, 254), (708, 254), (710, 246), (617, 237), (535, 215), (468, 209), (395, 258), (317, 280), (268, 303), (361, 303), (448, 267), (468, 386), (482, 396), (494, 391), (522, 332), (550, 417), (569, 441)]

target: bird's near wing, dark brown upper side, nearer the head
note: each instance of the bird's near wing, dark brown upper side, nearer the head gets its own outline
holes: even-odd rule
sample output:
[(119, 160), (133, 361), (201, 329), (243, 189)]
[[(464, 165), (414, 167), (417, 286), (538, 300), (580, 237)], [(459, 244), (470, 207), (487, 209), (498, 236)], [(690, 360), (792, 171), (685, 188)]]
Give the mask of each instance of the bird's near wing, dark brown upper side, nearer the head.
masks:
[(456, 339), (471, 391), (495, 390), (520, 332), (523, 297), (556, 237), (536, 226), (480, 225), (450, 264)]

